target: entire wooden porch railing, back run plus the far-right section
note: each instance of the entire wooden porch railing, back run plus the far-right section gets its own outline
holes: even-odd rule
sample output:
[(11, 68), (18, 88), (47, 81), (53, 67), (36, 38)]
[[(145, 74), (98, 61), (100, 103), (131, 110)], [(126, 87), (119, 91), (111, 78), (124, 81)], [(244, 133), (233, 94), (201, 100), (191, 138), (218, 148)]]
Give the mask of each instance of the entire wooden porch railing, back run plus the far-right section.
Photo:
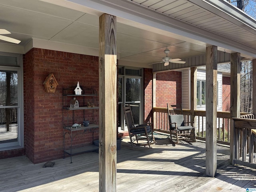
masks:
[[(154, 129), (169, 131), (167, 108), (155, 107)], [(186, 122), (191, 121), (190, 110), (183, 109)], [(195, 110), (196, 139), (205, 140), (206, 112)], [(217, 112), (217, 142), (230, 145), (230, 112)], [(256, 159), (256, 119), (253, 114), (241, 113), (240, 118), (234, 120), (234, 160), (255, 163)]]

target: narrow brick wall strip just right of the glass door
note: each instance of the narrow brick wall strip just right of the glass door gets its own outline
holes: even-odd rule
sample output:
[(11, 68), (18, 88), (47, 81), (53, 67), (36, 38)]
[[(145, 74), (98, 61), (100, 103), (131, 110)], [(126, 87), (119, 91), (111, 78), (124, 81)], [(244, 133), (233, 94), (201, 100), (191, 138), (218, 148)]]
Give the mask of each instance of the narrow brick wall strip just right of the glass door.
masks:
[(144, 121), (152, 122), (152, 79), (153, 70), (144, 68)]

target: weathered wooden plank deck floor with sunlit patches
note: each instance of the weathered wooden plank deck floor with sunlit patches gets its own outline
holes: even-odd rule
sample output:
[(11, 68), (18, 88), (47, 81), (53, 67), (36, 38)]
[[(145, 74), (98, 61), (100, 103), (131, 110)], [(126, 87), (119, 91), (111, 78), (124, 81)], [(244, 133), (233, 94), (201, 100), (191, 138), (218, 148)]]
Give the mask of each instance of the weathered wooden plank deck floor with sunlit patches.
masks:
[[(132, 149), (125, 138), (117, 151), (118, 192), (214, 192), (256, 188), (256, 170), (228, 164), (229, 148), (218, 146), (215, 178), (205, 176), (205, 144), (157, 140), (152, 148)], [(0, 160), (1, 192), (97, 192), (98, 153), (55, 160), (54, 167), (32, 164), (25, 156)]]

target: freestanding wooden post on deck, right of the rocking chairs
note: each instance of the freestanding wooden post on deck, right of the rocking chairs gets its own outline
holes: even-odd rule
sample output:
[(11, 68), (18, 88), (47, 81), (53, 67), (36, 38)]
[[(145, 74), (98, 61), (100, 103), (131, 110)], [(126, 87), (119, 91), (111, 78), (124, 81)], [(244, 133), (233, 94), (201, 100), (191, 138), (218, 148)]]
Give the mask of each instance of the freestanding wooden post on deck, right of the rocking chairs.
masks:
[(206, 47), (206, 176), (217, 168), (217, 47)]

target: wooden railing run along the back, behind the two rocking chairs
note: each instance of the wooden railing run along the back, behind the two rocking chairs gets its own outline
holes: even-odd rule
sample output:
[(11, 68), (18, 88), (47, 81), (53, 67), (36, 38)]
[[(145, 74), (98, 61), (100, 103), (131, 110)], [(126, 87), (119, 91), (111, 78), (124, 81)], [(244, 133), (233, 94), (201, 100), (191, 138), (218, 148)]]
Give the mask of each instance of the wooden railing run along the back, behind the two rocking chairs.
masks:
[[(183, 109), (184, 119), (186, 122), (191, 121), (190, 110)], [(154, 114), (156, 119), (154, 119), (154, 129), (169, 130), (168, 124), (168, 113), (167, 108), (154, 108)], [(203, 110), (194, 111), (195, 120), (194, 126), (196, 130), (196, 138), (200, 140), (205, 140), (206, 134), (206, 112)], [(227, 144), (230, 143), (230, 112), (217, 112), (217, 141), (218, 143)]]

